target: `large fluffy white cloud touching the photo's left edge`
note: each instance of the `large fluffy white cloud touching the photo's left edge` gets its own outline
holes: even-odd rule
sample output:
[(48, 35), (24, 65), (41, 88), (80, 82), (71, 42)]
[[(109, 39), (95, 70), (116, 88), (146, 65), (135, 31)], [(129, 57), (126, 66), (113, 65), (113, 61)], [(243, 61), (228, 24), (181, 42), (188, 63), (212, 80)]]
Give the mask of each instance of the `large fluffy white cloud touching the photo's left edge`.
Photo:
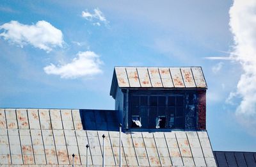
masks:
[(60, 29), (54, 28), (44, 20), (36, 22), (35, 25), (21, 24), (12, 20), (1, 25), (0, 29), (4, 29), (4, 32), (0, 34), (4, 40), (20, 47), (30, 44), (50, 52), (53, 47), (62, 47), (64, 43)]

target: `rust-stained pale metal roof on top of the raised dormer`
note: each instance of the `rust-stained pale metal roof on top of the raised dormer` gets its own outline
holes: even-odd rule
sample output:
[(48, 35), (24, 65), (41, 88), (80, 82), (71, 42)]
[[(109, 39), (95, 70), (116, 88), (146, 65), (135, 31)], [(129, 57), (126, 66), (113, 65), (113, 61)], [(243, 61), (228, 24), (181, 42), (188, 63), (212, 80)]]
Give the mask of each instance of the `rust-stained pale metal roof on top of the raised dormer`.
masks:
[(207, 88), (201, 67), (115, 67), (111, 95), (120, 88)]

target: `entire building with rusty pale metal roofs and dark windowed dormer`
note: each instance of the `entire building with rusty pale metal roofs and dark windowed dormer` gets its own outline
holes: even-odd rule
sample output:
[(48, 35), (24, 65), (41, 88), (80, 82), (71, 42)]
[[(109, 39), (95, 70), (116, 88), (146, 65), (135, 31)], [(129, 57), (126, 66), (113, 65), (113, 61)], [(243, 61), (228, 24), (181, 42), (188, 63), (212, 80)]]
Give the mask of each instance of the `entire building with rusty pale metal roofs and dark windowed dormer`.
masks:
[(122, 166), (228, 165), (205, 129), (206, 90), (200, 67), (115, 67), (115, 110), (2, 108), (0, 166), (102, 166), (103, 152), (118, 166), (119, 148)]

